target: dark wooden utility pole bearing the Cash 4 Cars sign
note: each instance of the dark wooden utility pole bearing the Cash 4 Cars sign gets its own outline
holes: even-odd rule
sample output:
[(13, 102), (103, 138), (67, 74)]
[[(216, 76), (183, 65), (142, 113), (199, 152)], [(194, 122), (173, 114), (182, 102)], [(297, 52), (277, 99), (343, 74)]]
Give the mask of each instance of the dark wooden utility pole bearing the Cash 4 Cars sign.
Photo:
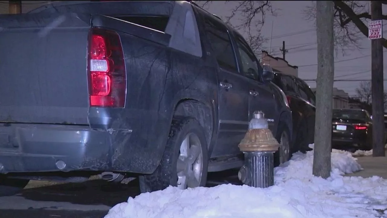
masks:
[[(371, 19), (382, 20), (382, 2), (371, 1)], [(371, 27), (369, 27), (371, 28)], [(382, 21), (380, 21), (382, 28)], [(371, 39), (372, 156), (384, 157), (383, 38)]]

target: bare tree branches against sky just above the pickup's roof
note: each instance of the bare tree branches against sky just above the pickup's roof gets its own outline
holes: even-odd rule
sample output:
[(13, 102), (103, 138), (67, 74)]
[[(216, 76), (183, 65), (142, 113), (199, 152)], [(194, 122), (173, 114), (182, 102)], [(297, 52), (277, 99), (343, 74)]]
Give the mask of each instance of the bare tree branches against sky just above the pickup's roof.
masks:
[[(202, 7), (202, 9), (209, 9), (212, 1), (195, 1), (195, 3)], [(272, 8), (271, 2), (224, 1), (224, 3), (235, 5), (229, 11), (229, 15), (223, 17), (224, 22), (245, 36), (253, 52), (259, 53), (264, 50), (263, 43), (267, 39), (261, 34), (261, 29), (265, 24), (265, 16), (267, 13), (276, 16), (276, 10)]]

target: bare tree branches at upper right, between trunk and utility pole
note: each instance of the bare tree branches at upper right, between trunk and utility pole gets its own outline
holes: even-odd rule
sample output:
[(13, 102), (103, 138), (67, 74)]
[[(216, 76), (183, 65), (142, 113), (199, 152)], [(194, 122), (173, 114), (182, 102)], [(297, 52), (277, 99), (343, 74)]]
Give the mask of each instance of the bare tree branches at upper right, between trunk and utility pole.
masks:
[[(335, 47), (359, 48), (359, 40), (368, 37), (368, 22), (371, 14), (365, 1), (333, 1), (335, 15)], [(382, 1), (387, 4), (387, 1)], [(315, 3), (304, 10), (307, 19), (315, 21)], [(382, 19), (387, 20), (387, 15)], [(361, 33), (363, 36), (359, 35)], [(383, 47), (387, 48), (387, 40), (383, 39)]]

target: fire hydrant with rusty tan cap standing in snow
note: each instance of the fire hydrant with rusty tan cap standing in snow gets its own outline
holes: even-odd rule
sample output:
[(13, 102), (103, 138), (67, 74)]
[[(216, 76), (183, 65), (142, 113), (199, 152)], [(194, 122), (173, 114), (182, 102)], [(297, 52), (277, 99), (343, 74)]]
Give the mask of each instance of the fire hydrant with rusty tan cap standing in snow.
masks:
[(238, 172), (238, 178), (246, 185), (266, 188), (274, 185), (274, 152), (279, 143), (269, 130), (262, 111), (255, 111), (245, 138), (239, 149), (245, 154), (245, 164)]

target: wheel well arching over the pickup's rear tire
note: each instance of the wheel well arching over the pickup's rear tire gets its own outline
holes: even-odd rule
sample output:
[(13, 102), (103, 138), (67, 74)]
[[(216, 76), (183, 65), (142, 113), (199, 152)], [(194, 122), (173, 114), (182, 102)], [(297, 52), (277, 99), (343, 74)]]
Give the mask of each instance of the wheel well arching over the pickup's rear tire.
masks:
[(173, 116), (195, 118), (204, 128), (207, 147), (209, 147), (213, 129), (212, 111), (210, 107), (194, 99), (182, 99), (177, 103)]

